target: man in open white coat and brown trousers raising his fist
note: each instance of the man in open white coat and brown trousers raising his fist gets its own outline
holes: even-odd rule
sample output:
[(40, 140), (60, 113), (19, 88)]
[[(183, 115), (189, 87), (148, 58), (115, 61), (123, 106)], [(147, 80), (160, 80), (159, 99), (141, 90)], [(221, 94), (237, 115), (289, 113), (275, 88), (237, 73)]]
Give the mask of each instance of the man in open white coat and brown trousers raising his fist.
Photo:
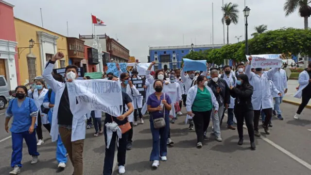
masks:
[[(73, 166), (73, 175), (83, 175), (83, 145), (86, 137), (86, 116), (73, 116), (69, 105), (69, 95), (66, 83), (56, 81), (52, 70), (57, 60), (64, 58), (63, 53), (56, 53), (50, 60), (42, 76), (55, 92), (55, 104), (52, 115), (52, 141), (61, 136)], [(65, 69), (68, 81), (78, 77), (78, 67), (69, 65)]]

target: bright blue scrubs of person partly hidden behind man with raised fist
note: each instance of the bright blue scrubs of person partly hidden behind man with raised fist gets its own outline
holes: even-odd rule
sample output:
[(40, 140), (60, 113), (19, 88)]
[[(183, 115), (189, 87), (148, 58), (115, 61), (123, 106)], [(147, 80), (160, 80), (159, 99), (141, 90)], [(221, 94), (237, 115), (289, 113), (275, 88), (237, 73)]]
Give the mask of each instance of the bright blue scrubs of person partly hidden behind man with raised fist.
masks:
[[(43, 100), (43, 103), (50, 103), (55, 104), (55, 93), (54, 91), (51, 92), (51, 98), (49, 100), (49, 92), (45, 95), (45, 98)], [(48, 113), (48, 121), (52, 124), (52, 115), (53, 115), (53, 108), (50, 108)], [(56, 160), (58, 163), (67, 163), (67, 150), (65, 148), (65, 145), (63, 144), (60, 135), (58, 135), (57, 139), (57, 147), (56, 147)]]

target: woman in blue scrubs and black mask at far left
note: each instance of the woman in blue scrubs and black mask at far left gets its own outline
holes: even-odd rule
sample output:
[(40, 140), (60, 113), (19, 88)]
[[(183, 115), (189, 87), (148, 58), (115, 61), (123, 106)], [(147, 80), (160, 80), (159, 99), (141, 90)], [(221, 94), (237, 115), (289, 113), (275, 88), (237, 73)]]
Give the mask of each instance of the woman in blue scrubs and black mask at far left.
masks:
[(31, 164), (38, 162), (37, 140), (35, 137), (35, 119), (38, 109), (33, 99), (27, 97), (28, 92), (25, 86), (18, 86), (15, 89), (16, 98), (11, 100), (6, 110), (5, 131), (9, 132), (8, 123), (13, 117), (12, 127), (12, 158), (11, 167), (14, 168), (10, 175), (20, 173), (23, 139), (25, 139), (28, 153), (33, 157)]

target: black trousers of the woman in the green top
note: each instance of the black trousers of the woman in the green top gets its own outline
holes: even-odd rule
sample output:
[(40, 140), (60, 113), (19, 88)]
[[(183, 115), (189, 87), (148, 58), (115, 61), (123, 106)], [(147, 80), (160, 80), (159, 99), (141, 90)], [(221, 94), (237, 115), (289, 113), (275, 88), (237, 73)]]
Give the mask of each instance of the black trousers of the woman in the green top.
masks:
[(204, 131), (207, 130), (211, 110), (205, 112), (192, 111), (194, 114), (193, 123), (195, 128), (195, 133), (197, 137), (197, 142), (202, 142), (204, 139)]

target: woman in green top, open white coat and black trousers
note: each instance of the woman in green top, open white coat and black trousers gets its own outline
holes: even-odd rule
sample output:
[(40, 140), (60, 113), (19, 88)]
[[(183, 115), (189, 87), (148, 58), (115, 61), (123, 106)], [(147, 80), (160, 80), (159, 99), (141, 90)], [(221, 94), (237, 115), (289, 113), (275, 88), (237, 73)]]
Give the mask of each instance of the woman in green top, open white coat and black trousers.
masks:
[(198, 76), (196, 85), (188, 91), (186, 101), (187, 114), (192, 117), (197, 136), (197, 148), (202, 147), (204, 132), (207, 130), (212, 108), (218, 112), (218, 102), (211, 88), (207, 86), (207, 78)]

